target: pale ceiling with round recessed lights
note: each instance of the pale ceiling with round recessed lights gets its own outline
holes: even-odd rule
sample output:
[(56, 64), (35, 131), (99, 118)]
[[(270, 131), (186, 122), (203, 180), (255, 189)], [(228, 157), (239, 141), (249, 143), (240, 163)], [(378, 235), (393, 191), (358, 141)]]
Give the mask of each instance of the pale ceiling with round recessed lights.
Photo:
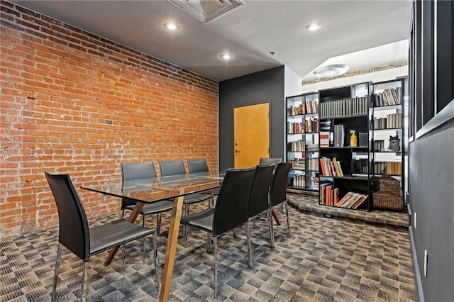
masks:
[[(218, 81), (280, 65), (307, 79), (313, 69), (343, 55), (348, 62), (334, 61), (350, 71), (406, 60), (402, 40), (409, 36), (411, 0), (243, 1), (208, 23), (166, 0), (11, 2)], [(179, 23), (177, 32), (163, 27), (170, 20)], [(314, 21), (321, 30), (306, 31)], [(380, 45), (387, 47), (359, 56)], [(222, 52), (233, 59), (221, 60)], [(348, 55), (352, 52), (358, 53)]]

